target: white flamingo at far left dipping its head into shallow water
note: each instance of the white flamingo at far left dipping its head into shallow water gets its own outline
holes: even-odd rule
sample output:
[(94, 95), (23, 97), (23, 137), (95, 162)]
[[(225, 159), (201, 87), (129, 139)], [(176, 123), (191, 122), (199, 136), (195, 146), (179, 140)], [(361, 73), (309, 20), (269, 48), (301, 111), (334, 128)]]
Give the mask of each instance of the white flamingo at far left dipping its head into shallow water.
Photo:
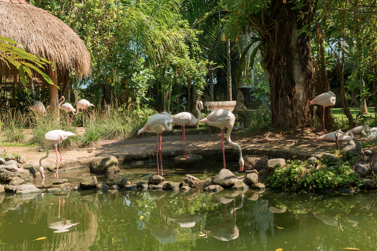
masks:
[[(74, 133), (65, 132), (65, 131), (62, 131), (62, 130), (53, 130), (53, 131), (50, 131), (50, 132), (48, 132), (48, 133), (45, 134), (45, 137), (43, 138), (43, 142), (44, 142), (44, 145), (45, 145), (47, 153), (46, 153), (45, 156), (43, 156), (39, 160), (39, 172), (40, 172), (42, 178), (46, 177), (44, 175), (44, 170), (43, 170), (43, 167), (42, 167), (42, 160), (46, 159), (48, 157), (48, 155), (50, 154), (48, 148), (51, 145), (55, 145), (55, 150), (56, 150), (56, 172), (55, 172), (54, 177), (58, 178), (59, 165), (61, 163), (61, 160), (63, 159), (62, 156), (61, 156), (60, 149), (59, 149), (59, 144), (63, 140), (67, 139), (68, 137), (72, 137), (72, 136), (76, 136), (76, 135)], [(58, 158), (58, 150), (59, 150), (59, 154), (60, 154), (60, 162), (59, 162), (59, 158)]]

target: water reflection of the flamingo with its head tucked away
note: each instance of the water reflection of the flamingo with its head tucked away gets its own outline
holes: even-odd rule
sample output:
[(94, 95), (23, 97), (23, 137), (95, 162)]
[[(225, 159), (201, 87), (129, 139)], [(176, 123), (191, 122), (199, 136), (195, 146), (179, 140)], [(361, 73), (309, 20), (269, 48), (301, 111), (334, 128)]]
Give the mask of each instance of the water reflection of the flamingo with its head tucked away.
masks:
[(145, 229), (149, 229), (150, 234), (154, 236), (160, 243), (173, 243), (177, 236), (175, 229), (172, 229), (169, 224), (166, 223), (165, 213), (163, 208), (163, 200), (156, 201), (158, 208), (160, 208), (160, 222), (162, 223), (146, 223), (141, 222), (141, 225)]

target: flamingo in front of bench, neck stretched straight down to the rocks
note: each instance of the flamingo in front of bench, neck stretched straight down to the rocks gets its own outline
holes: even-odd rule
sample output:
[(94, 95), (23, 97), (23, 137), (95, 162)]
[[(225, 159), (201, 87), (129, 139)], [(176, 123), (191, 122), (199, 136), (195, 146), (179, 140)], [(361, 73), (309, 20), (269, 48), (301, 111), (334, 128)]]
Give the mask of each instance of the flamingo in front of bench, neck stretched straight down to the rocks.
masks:
[(242, 150), (241, 147), (230, 140), (230, 134), (233, 130), (235, 117), (231, 111), (219, 109), (214, 110), (211, 112), (207, 117), (203, 118), (199, 122), (204, 122), (206, 124), (209, 124), (213, 127), (218, 127), (221, 129), (221, 150), (223, 151), (223, 163), (224, 168), (225, 166), (225, 149), (224, 149), (224, 128), (228, 129), (227, 132), (227, 141), (229, 144), (236, 146), (238, 148), (238, 151), (240, 152), (240, 159), (239, 159), (239, 165), (240, 165), (240, 172), (243, 171), (243, 165), (245, 164), (244, 160), (242, 159)]

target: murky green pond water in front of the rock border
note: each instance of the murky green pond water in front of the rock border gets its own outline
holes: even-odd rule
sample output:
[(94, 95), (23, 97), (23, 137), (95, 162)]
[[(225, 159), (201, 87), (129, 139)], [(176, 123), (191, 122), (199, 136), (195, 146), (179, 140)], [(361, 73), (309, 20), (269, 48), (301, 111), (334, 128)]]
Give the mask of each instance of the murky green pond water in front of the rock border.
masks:
[[(144, 171), (122, 172), (144, 179)], [(204, 173), (198, 176), (212, 176)], [(376, 191), (90, 190), (2, 194), (0, 202), (0, 250), (377, 248)]]

